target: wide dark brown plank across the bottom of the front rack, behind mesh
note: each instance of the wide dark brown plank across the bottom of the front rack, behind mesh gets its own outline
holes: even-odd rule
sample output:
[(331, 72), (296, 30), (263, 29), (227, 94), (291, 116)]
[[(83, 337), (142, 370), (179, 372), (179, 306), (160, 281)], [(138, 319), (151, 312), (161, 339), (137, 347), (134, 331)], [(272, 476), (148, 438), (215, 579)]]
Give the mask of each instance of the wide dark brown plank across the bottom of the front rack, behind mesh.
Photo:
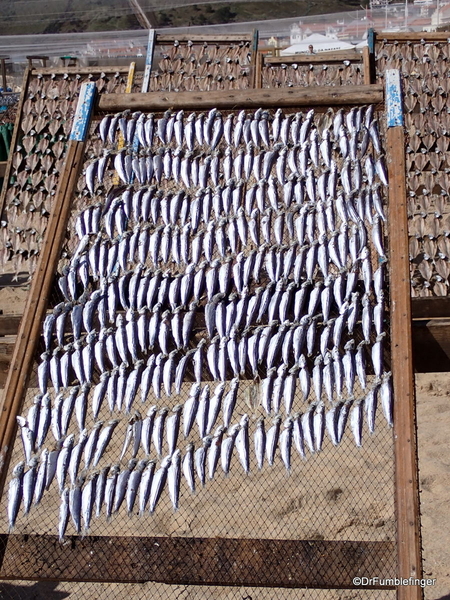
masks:
[(346, 589), (357, 576), (395, 577), (392, 542), (74, 536), (63, 545), (52, 535), (3, 537), (1, 579)]

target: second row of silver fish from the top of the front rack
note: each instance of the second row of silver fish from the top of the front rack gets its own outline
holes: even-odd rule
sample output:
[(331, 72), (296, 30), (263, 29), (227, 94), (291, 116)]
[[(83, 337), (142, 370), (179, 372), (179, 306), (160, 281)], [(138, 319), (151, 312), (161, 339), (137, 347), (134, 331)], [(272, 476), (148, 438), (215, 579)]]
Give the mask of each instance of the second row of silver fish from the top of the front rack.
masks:
[[(341, 138), (342, 139), (342, 138)], [(326, 141), (326, 140), (324, 140)], [(329, 140), (328, 140), (329, 141)], [(372, 159), (369, 154), (364, 165), (359, 160), (353, 160), (348, 156), (342, 165), (336, 164), (332, 158), (332, 146), (330, 144), (320, 144), (323, 152), (323, 160), (330, 169), (322, 174), (322, 180), (325, 180), (324, 187), (328, 179), (330, 183), (335, 181), (337, 170), (342, 170), (342, 182), (345, 184), (346, 194), (352, 191), (357, 191), (361, 187), (363, 181), (368, 181), (369, 185), (373, 184), (374, 178), (377, 175), (380, 180), (386, 185), (386, 166), (382, 157)], [(270, 152), (262, 152), (254, 154), (252, 145), (247, 149), (247, 153), (243, 150), (237, 153), (233, 159), (231, 148), (227, 148), (225, 154), (215, 153), (212, 157), (202, 154), (193, 156), (193, 153), (175, 150), (170, 148), (160, 148), (156, 154), (150, 152), (144, 155), (135, 155), (134, 157), (127, 153), (126, 150), (120, 151), (116, 155), (108, 152), (102, 157), (93, 161), (86, 169), (86, 184), (91, 194), (95, 193), (96, 185), (102, 185), (105, 177), (111, 175), (108, 171), (109, 163), (114, 160), (114, 169), (117, 176), (123, 184), (131, 185), (137, 181), (139, 185), (146, 184), (161, 184), (162, 180), (173, 181), (175, 184), (184, 184), (187, 189), (192, 189), (193, 186), (206, 189), (209, 186), (225, 187), (234, 184), (237, 188), (242, 186), (253, 178), (253, 187), (259, 185), (272, 184), (272, 187), (277, 187), (276, 184), (284, 187), (290, 181), (298, 182), (299, 185), (305, 186), (305, 182), (315, 179), (313, 165), (319, 165), (319, 153), (310, 152), (312, 146), (305, 145), (303, 147), (295, 146), (290, 151), (287, 147), (276, 148)], [(317, 148), (318, 149), (318, 146)], [(345, 150), (350, 155), (354, 155), (355, 148)], [(276, 177), (272, 175), (275, 170)], [(320, 178), (314, 186), (320, 186)], [(223, 184), (223, 185), (221, 185)], [(308, 190), (309, 191), (309, 190)], [(315, 190), (313, 190), (313, 193)], [(315, 200), (315, 197), (312, 198)]]

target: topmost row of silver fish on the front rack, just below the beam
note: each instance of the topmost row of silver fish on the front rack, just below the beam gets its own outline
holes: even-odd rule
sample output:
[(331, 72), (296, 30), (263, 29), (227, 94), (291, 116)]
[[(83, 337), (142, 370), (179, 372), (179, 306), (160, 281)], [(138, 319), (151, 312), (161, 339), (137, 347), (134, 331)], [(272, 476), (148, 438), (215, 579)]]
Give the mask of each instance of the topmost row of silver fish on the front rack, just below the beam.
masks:
[[(330, 126), (323, 129), (324, 141), (321, 150), (328, 166), (330, 165), (327, 157), (331, 155), (331, 143), (334, 141), (338, 142), (343, 158), (348, 156), (352, 148), (356, 158), (359, 138), (362, 146), (361, 158), (365, 155), (370, 141), (377, 153), (381, 149), (373, 108), (351, 109), (346, 113), (345, 119), (343, 115), (343, 111), (337, 111), (333, 117), (329, 117)], [(136, 138), (144, 148), (152, 147), (157, 139), (164, 146), (174, 140), (178, 147), (186, 144), (190, 151), (196, 144), (207, 145), (213, 151), (219, 146), (222, 137), (228, 146), (238, 147), (242, 142), (253, 142), (257, 148), (270, 148), (279, 141), (285, 145), (292, 143), (305, 146), (309, 140), (311, 154), (318, 154), (321, 143), (319, 133), (313, 126), (313, 118), (313, 110), (306, 115), (296, 113), (283, 116), (283, 111), (278, 109), (272, 116), (270, 111), (258, 109), (253, 114), (240, 111), (236, 116), (230, 113), (226, 119), (215, 108), (207, 115), (191, 113), (187, 118), (184, 117), (183, 110), (176, 113), (168, 110), (159, 119), (156, 119), (153, 113), (131, 113), (130, 110), (126, 110), (123, 113), (106, 115), (99, 124), (99, 135), (105, 144), (107, 141), (114, 144), (120, 131), (126, 145), (132, 146)]]

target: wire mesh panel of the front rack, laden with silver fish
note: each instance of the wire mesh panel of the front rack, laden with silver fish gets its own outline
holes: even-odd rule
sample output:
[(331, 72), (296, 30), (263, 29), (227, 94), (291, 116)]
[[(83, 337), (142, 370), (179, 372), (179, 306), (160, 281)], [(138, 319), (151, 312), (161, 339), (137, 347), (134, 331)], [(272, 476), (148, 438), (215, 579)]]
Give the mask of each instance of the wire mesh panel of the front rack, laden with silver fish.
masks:
[(395, 540), (380, 140), (372, 107), (93, 123), (3, 532)]

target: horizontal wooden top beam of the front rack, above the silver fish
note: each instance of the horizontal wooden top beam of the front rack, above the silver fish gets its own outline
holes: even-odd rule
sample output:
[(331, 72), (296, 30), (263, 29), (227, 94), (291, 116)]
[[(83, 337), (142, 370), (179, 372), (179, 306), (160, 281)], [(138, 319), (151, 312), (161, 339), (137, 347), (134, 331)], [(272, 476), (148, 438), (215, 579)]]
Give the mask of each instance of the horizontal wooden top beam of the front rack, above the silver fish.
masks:
[(286, 106), (340, 106), (378, 104), (383, 101), (381, 85), (317, 86), (272, 90), (228, 90), (221, 92), (153, 92), (152, 94), (103, 94), (97, 109), (116, 112), (131, 110), (243, 109)]

